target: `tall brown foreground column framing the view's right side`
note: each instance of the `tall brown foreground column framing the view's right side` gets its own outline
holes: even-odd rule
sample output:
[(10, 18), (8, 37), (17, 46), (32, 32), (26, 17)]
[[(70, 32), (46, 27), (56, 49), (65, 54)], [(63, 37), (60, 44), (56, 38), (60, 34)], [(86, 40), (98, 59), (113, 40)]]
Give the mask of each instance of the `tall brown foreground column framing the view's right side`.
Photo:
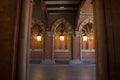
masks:
[[(105, 27), (105, 13), (103, 7), (103, 0), (93, 0), (94, 11), (94, 31), (95, 31), (95, 47), (96, 47), (96, 79), (108, 79), (108, 55), (107, 55), (107, 41), (106, 41), (106, 27)], [(109, 3), (108, 3), (109, 4)]]

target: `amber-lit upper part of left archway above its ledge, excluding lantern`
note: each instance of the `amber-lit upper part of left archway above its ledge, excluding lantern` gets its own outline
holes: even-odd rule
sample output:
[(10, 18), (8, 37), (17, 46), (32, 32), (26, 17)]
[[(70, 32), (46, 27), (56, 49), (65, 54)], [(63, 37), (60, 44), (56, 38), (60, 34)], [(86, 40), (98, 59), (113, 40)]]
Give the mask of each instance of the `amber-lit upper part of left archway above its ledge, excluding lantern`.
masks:
[[(43, 49), (43, 42), (44, 42), (44, 31), (45, 31), (45, 25), (44, 23), (39, 19), (33, 19), (32, 20), (32, 26), (31, 26), (31, 35), (30, 35), (30, 48), (31, 49)], [(42, 36), (41, 41), (37, 41), (37, 36), (40, 34)]]

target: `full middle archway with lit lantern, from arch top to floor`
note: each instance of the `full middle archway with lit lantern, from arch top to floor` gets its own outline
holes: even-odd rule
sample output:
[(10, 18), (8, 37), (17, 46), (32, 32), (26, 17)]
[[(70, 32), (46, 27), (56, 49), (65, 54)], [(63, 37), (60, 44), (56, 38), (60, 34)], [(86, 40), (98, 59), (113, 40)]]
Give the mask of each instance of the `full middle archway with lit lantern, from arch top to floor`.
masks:
[(57, 19), (51, 28), (54, 32), (54, 59), (56, 64), (69, 64), (71, 59), (72, 27), (64, 18)]

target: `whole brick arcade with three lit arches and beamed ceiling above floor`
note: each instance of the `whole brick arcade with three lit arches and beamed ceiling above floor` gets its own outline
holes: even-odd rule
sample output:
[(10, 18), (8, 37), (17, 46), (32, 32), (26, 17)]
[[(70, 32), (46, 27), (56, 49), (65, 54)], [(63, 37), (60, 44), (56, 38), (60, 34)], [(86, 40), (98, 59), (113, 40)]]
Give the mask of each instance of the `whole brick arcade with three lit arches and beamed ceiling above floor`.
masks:
[[(58, 9), (57, 5), (64, 6), (64, 8)], [(30, 25), (30, 61), (55, 64), (56, 61), (67, 60), (70, 64), (80, 64), (81, 59), (95, 60), (95, 34), (91, 0), (86, 0), (82, 7), (77, 7), (78, 5), (82, 5), (82, 0), (45, 0), (44, 3), (34, 0), (31, 11), (32, 24)], [(43, 9), (44, 6), (46, 7)], [(48, 14), (45, 13), (46, 10)], [(57, 12), (58, 10), (59, 12)], [(62, 11), (63, 13), (61, 13)], [(76, 14), (77, 12), (79, 14)]]

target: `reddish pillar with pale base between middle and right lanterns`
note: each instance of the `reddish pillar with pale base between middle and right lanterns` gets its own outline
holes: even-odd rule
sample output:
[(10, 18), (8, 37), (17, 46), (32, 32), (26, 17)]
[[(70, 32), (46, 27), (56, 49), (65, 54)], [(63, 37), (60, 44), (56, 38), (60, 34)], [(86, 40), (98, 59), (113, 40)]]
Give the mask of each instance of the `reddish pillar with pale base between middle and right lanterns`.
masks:
[(71, 55), (71, 61), (70, 64), (81, 64), (81, 60), (80, 60), (80, 32), (79, 31), (75, 31), (74, 35), (72, 36), (72, 55)]

